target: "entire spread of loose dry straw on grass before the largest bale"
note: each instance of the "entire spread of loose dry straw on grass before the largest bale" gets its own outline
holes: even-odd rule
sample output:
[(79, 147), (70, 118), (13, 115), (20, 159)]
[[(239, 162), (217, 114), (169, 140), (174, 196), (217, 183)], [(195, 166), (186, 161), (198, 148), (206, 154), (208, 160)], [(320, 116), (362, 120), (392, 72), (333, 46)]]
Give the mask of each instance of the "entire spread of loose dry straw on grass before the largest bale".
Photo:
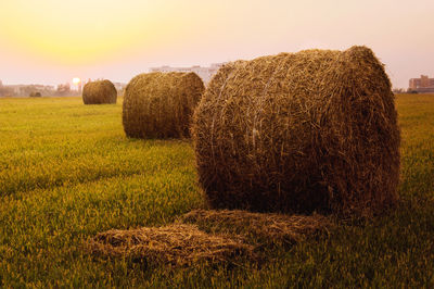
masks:
[[(294, 244), (327, 231), (324, 216), (195, 210), (166, 227), (142, 227), (100, 233), (87, 250), (102, 257), (146, 263), (192, 265), (196, 262), (237, 264), (261, 262), (265, 247)], [(235, 263), (237, 262), (237, 263)]]

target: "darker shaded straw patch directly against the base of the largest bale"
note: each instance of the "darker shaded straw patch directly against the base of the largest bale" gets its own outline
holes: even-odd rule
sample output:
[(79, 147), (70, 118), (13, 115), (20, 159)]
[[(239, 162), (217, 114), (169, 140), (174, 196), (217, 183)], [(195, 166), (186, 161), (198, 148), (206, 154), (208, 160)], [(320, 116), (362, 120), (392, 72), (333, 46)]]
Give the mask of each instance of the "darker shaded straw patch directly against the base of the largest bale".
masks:
[(210, 233), (240, 235), (276, 244), (301, 242), (332, 226), (329, 218), (318, 214), (303, 216), (239, 210), (195, 210), (184, 214), (179, 222), (195, 224)]

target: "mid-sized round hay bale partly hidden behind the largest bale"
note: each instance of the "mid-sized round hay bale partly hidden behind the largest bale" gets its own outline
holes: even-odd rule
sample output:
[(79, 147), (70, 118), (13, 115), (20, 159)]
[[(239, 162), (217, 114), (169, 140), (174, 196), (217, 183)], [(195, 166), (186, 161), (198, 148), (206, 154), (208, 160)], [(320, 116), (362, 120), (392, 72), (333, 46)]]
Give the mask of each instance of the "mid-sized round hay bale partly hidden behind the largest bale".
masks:
[(190, 136), (191, 117), (204, 91), (194, 73), (140, 74), (124, 95), (124, 130), (132, 138)]

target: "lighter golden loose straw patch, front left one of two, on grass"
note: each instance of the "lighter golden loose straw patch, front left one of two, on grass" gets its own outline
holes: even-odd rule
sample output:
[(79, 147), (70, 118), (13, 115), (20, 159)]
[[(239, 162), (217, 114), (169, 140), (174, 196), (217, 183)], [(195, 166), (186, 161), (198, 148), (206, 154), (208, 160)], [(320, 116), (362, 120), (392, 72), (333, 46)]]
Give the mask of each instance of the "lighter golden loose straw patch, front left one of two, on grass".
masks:
[(195, 262), (231, 263), (238, 256), (254, 257), (253, 246), (240, 237), (208, 235), (194, 225), (108, 230), (89, 243), (90, 253), (99, 256), (127, 257), (175, 266)]

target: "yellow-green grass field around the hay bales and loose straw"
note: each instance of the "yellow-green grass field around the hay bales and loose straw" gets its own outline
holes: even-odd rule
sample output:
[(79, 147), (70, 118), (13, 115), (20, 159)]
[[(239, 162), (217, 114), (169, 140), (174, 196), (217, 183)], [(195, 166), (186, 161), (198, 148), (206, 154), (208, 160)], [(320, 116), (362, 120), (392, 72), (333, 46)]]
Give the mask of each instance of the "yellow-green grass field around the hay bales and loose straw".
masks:
[(260, 267), (93, 260), (110, 228), (203, 206), (189, 141), (125, 137), (122, 105), (0, 99), (0, 287), (434, 287), (434, 96), (397, 97), (400, 202), (365, 224), (276, 247)]

